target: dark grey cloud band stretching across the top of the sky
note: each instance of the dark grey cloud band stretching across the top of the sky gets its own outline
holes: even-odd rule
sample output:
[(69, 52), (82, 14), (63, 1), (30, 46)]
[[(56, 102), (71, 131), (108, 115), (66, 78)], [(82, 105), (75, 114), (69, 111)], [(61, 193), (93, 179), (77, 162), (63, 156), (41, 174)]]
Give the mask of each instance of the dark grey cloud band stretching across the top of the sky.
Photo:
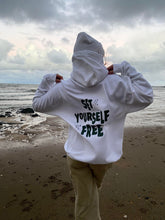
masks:
[(0, 0), (0, 18), (26, 22), (34, 21), (45, 30), (60, 30), (74, 25), (108, 26), (133, 25), (165, 19), (164, 0)]

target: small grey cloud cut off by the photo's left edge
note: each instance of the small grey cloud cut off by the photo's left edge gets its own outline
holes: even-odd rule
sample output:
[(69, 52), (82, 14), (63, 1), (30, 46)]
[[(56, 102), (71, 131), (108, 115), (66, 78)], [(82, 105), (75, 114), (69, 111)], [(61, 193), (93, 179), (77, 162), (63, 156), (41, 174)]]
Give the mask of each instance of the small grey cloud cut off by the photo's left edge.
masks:
[(0, 61), (5, 59), (9, 51), (13, 48), (13, 44), (9, 43), (6, 40), (0, 39)]

